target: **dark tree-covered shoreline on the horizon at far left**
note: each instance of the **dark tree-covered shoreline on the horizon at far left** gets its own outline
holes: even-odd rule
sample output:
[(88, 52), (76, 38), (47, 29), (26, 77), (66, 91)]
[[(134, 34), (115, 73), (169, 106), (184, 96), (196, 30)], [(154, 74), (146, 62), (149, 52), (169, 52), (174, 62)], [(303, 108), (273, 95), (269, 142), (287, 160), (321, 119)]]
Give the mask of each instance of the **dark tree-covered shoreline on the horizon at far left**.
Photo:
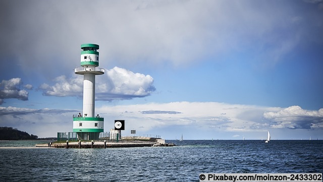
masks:
[(36, 135), (29, 135), (27, 132), (19, 131), (12, 127), (0, 127), (0, 140), (35, 140)]

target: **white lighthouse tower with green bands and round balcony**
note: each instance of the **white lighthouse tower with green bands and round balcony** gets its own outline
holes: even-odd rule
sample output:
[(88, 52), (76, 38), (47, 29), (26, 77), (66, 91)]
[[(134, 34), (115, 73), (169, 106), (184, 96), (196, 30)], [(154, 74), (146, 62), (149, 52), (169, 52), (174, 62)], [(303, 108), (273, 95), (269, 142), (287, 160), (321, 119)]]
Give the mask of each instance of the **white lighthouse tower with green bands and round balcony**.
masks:
[(81, 66), (74, 72), (83, 75), (83, 113), (73, 115), (73, 132), (77, 133), (79, 140), (97, 140), (103, 132), (103, 117), (95, 115), (95, 75), (104, 74), (99, 66), (99, 45), (81, 45)]

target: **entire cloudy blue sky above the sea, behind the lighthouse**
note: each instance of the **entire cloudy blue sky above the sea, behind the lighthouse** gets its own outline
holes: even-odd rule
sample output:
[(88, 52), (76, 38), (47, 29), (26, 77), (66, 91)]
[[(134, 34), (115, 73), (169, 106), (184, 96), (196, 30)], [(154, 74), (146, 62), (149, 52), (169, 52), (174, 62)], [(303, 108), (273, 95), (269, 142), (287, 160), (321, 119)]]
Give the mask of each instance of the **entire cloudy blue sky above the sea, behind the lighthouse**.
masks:
[(82, 112), (100, 47), (104, 132), (323, 140), (323, 1), (0, 1), (0, 126), (39, 138)]

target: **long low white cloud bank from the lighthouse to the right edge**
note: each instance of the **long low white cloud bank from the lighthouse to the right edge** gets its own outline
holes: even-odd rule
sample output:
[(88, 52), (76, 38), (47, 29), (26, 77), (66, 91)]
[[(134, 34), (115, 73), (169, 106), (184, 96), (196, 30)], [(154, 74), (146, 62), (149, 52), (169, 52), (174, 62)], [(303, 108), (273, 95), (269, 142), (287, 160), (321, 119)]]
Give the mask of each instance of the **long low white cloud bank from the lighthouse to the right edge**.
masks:
[(298, 115), (295, 116), (297, 109), (292, 109), (295, 107), (299, 106), (282, 109), (219, 102), (170, 102), (102, 106), (96, 108), (96, 111), (112, 120), (125, 119), (128, 127), (139, 127), (140, 131), (176, 126), (194, 128), (197, 133), (261, 132), (281, 128), (323, 129), (320, 116), (323, 109), (319, 111), (301, 109), (299, 111), (302, 112), (297, 112)]

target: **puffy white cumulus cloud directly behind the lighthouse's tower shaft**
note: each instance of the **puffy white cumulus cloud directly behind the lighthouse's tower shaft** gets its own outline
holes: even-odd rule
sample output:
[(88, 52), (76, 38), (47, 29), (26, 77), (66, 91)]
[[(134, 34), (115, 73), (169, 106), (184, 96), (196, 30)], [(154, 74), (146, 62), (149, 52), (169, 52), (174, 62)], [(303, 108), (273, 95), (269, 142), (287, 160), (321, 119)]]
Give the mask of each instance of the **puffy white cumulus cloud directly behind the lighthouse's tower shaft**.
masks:
[[(73, 75), (57, 77), (55, 85), (42, 84), (39, 89), (46, 96), (78, 96), (83, 94), (83, 76)], [(135, 97), (149, 96), (155, 87), (153, 78), (150, 75), (133, 73), (129, 70), (115, 67), (107, 70), (103, 76), (96, 77), (96, 100), (123, 100)]]

